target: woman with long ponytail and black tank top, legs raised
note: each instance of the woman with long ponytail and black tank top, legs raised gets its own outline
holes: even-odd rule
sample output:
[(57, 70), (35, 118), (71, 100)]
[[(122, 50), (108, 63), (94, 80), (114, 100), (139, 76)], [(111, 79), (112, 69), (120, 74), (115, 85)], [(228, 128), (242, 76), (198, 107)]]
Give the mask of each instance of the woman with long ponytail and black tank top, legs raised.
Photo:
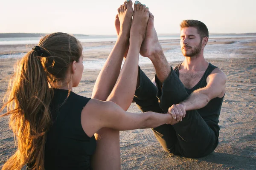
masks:
[[(106, 84), (100, 85), (100, 90), (97, 87), (102, 81), (97, 80), (93, 92), (94, 98), (108, 95), (107, 101), (72, 92), (81, 80), (83, 55), (81, 43), (69, 34), (43, 37), (20, 60), (9, 83), (8, 100), (1, 109), (7, 108), (1, 116), (10, 115), (10, 127), (17, 139), (17, 151), (3, 170), (21, 169), (24, 164), (37, 170), (91, 169), (104, 164), (100, 162), (104, 145), (99, 145), (96, 161), (90, 163), (96, 150), (94, 133), (99, 130), (151, 128), (172, 122), (170, 114), (124, 111), (131, 104), (136, 88), (136, 81), (129, 81), (129, 76), (137, 79), (138, 68), (133, 65), (138, 62), (148, 21), (145, 5), (135, 3), (132, 13), (130, 7), (131, 1), (119, 8), (120, 34), (106, 62), (107, 66), (118, 65), (129, 48), (125, 64), (119, 75), (107, 76), (111, 79), (104, 81)], [(102, 71), (100, 79), (108, 74), (108, 69)]]

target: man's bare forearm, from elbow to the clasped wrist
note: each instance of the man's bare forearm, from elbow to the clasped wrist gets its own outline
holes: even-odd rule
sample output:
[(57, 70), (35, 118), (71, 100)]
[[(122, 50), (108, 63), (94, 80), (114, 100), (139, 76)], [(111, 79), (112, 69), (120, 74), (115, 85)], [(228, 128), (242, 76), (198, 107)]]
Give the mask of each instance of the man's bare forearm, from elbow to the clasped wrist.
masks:
[(186, 100), (180, 102), (185, 105), (185, 111), (204, 108), (209, 102), (209, 97), (204, 93), (204, 89), (194, 91)]

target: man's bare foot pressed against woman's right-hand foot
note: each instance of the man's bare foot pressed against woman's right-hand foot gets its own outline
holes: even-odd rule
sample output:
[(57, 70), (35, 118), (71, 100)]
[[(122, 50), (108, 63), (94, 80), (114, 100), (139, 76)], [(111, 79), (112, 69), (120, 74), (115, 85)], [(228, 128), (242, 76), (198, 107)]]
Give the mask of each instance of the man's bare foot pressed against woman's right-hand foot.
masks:
[(140, 55), (151, 57), (158, 51), (162, 51), (162, 47), (158, 41), (157, 31), (154, 28), (154, 15), (149, 12), (147, 31), (145, 40), (140, 47)]

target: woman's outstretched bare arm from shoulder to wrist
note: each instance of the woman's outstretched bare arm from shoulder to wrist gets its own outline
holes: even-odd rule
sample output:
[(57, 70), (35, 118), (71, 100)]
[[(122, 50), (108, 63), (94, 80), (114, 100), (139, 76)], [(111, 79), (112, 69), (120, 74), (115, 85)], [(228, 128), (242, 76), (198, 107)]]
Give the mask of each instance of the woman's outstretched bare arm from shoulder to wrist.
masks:
[(129, 113), (110, 101), (91, 99), (81, 113), (81, 125), (88, 136), (93, 136), (102, 127), (115, 130), (153, 128), (175, 121), (171, 114), (155, 112)]

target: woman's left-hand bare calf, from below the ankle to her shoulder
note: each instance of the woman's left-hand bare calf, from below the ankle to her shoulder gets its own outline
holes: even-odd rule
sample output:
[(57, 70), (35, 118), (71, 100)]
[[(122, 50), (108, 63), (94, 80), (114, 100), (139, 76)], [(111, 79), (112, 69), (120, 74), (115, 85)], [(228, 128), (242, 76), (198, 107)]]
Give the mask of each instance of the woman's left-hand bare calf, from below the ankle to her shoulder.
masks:
[(106, 100), (119, 76), (125, 50), (128, 48), (128, 38), (120, 35), (111, 54), (105, 62), (93, 87), (92, 98)]

